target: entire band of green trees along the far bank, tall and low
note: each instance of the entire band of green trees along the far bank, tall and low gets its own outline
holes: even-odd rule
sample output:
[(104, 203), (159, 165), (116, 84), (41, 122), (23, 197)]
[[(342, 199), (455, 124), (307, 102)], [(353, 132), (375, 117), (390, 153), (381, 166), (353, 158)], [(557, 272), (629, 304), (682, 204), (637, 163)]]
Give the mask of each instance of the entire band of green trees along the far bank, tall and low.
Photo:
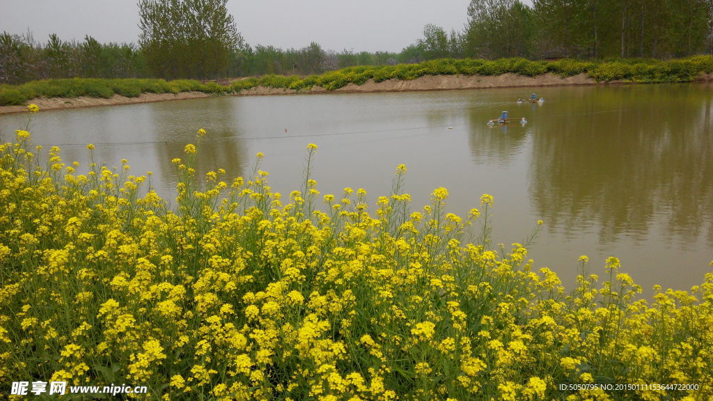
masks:
[(399, 53), (250, 46), (227, 0), (139, 0), (138, 44), (0, 35), (0, 83), (46, 78), (311, 75), (431, 59), (670, 59), (713, 54), (713, 0), (471, 0), (462, 31), (424, 26)]

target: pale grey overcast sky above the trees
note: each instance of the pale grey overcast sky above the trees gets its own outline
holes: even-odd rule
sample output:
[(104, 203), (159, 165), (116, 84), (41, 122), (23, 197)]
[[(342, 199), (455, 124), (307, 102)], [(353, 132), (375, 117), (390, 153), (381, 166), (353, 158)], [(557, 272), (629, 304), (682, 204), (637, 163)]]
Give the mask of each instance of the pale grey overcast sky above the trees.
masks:
[[(0, 0), (0, 31), (46, 42), (49, 34), (101, 43), (138, 41), (138, 1)], [(461, 31), (469, 0), (252, 0), (228, 1), (247, 43), (300, 49), (401, 51), (421, 38), (424, 25)]]

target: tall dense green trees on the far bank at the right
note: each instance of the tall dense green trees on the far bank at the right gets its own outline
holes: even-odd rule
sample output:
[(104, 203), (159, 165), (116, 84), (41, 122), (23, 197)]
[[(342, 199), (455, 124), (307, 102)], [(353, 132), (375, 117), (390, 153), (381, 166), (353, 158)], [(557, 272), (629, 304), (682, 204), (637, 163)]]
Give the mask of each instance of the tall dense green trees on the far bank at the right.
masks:
[(713, 0), (471, 0), (461, 42), (484, 59), (713, 54)]

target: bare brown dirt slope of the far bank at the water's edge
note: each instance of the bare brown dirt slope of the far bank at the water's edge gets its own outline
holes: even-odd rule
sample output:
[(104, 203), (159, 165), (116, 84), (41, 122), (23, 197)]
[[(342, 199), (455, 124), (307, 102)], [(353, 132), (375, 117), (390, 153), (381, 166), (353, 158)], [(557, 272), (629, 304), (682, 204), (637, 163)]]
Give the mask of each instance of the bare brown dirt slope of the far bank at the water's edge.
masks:
[[(692, 82), (713, 81), (713, 73), (704, 73)], [(597, 82), (586, 73), (575, 76), (561, 77), (554, 73), (545, 73), (539, 76), (521, 76), (515, 73), (504, 73), (500, 76), (466, 76), (466, 75), (426, 75), (413, 80), (389, 79), (374, 82), (369, 79), (361, 85), (349, 83), (347, 86), (328, 91), (320, 86), (314, 86), (307, 91), (297, 91), (286, 88), (270, 88), (255, 86), (245, 89), (240, 93), (230, 93), (220, 96), (270, 96), (292, 94), (322, 94), (322, 93), (381, 93), (381, 92), (414, 92), (414, 91), (451, 91), (461, 89), (486, 89), (486, 88), (518, 88), (518, 87), (546, 87), (546, 86), (592, 86), (612, 84), (632, 84), (630, 81)], [(116, 106), (135, 103), (153, 103), (157, 101), (174, 101), (194, 98), (208, 98), (214, 95), (203, 92), (181, 93), (142, 93), (138, 97), (125, 97), (113, 95), (111, 98), (34, 98), (26, 104), (36, 104), (40, 110), (62, 110), (66, 108), (86, 108), (98, 106)], [(1, 114), (24, 113), (27, 106), (0, 106)]]

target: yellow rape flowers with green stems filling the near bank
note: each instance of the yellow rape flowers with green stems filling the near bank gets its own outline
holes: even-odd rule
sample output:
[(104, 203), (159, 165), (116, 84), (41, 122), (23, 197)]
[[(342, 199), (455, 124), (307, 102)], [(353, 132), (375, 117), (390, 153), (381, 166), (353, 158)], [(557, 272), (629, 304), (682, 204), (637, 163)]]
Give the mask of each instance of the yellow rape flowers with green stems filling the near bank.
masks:
[[(128, 161), (43, 156), (27, 127), (0, 146), (0, 394), (66, 380), (153, 400), (713, 399), (713, 273), (647, 301), (616, 258), (600, 280), (582, 256), (567, 292), (527, 244), (491, 244), (487, 194), (467, 218), (446, 188), (412, 211), (399, 165), (375, 205), (322, 195), (310, 144), (282, 196), (262, 153), (245, 179), (199, 177), (203, 135), (173, 160), (175, 207)], [(560, 390), (587, 384), (630, 387)]]

